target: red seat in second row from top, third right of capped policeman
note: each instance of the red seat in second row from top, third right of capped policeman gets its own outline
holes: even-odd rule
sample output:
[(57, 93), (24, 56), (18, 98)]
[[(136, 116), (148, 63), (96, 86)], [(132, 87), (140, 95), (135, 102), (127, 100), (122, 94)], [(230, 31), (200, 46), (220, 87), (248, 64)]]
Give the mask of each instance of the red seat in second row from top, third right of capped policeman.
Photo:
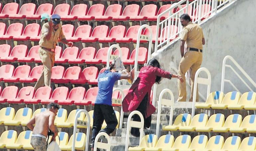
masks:
[(96, 26), (93, 29), (93, 33), (91, 34), (91, 37), (88, 38), (82, 38), (82, 42), (96, 42), (99, 38), (105, 38), (108, 35), (108, 26), (106, 25), (100, 25)]

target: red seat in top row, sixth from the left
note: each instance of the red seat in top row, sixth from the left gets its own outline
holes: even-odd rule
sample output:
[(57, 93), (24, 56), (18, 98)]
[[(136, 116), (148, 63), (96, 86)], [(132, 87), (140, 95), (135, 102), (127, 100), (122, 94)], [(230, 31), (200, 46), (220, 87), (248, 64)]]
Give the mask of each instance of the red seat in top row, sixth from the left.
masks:
[(79, 16), (77, 20), (93, 20), (96, 16), (102, 16), (104, 14), (105, 6), (103, 4), (94, 4), (89, 8), (86, 16)]

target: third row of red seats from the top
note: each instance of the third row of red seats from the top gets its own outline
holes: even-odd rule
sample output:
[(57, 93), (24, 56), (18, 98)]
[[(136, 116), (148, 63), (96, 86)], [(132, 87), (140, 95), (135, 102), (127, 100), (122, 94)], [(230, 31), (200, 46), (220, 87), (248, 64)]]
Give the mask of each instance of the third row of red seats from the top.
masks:
[[(35, 62), (41, 63), (38, 54), (39, 45), (33, 46), (28, 51), (27, 45), (16, 45), (11, 49), (8, 44), (0, 45), (0, 61), (1, 62)], [(68, 47), (62, 51), (60, 46), (55, 48), (55, 63), (74, 63), (74, 64), (107, 64), (107, 53), (109, 47), (104, 47), (96, 51), (94, 47), (85, 47), (79, 51), (76, 46)], [(127, 47), (122, 47), (121, 60), (124, 65), (133, 65), (135, 63), (136, 49), (130, 50)], [(119, 51), (116, 49), (111, 54), (119, 56)], [(146, 63), (148, 57), (148, 49), (140, 47), (138, 49), (138, 63)], [(112, 60), (110, 60), (110, 63)], [(1, 75), (0, 75), (1, 76)]]

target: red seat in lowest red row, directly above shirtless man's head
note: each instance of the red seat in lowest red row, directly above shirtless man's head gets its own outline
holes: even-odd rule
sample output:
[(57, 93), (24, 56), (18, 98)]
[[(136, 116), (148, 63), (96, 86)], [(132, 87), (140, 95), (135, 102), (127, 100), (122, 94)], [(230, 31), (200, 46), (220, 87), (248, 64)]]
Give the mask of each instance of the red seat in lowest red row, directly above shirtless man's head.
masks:
[(52, 92), (52, 96), (49, 100), (41, 100), (42, 104), (48, 104), (50, 102), (57, 103), (58, 100), (66, 100), (69, 94), (69, 90), (66, 86), (61, 86)]

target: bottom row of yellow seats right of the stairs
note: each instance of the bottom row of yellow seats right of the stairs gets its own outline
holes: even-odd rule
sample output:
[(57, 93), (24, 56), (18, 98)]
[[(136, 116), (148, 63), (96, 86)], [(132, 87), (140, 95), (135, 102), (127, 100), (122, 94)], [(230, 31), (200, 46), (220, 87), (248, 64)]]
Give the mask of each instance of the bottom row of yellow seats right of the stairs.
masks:
[(181, 135), (174, 141), (173, 135), (157, 136), (149, 134), (143, 137), (138, 147), (129, 147), (128, 151), (254, 151), (256, 137), (245, 137), (242, 142), (239, 136), (224, 137), (217, 135), (208, 140), (206, 135), (198, 135), (191, 141), (191, 136)]

